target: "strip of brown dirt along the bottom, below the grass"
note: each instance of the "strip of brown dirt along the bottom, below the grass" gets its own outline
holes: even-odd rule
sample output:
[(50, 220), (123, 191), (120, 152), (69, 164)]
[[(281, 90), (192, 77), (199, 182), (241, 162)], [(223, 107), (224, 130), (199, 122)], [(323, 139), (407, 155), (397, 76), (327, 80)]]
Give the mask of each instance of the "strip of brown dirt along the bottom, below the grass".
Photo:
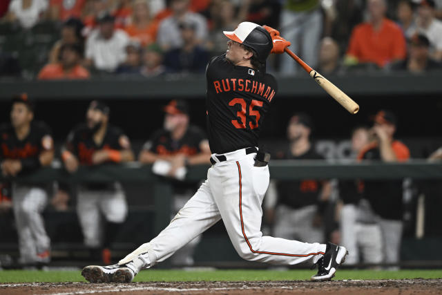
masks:
[(437, 280), (334, 280), (331, 282), (152, 282), (128, 284), (20, 283), (0, 284), (0, 294), (442, 294)]

